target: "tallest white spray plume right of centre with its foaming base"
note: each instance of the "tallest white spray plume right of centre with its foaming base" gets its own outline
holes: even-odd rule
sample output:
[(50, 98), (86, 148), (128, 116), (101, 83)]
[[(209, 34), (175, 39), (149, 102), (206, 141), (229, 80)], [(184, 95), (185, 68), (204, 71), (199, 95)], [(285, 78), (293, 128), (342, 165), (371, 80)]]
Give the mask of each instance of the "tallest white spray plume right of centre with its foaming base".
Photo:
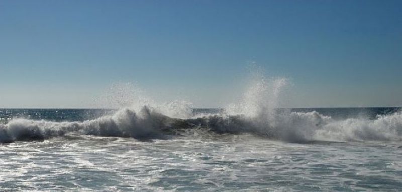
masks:
[[(290, 142), (313, 139), (315, 130), (321, 126), (323, 119), (329, 117), (317, 112), (295, 113), (288, 109), (280, 109), (283, 90), (288, 84), (286, 78), (267, 78), (260, 71), (252, 73), (242, 98), (230, 104), (222, 115), (222, 121), (225, 119), (229, 122), (215, 120), (213, 122), (220, 123), (210, 123), (209, 127), (231, 132), (241, 130)], [(217, 119), (217, 116), (210, 118)]]

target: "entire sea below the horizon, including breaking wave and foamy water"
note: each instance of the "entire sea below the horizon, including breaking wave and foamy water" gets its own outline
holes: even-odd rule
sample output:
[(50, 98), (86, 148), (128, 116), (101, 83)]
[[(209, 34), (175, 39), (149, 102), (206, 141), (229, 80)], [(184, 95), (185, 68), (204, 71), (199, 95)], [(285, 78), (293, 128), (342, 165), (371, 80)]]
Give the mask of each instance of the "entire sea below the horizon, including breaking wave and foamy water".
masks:
[(0, 109), (0, 191), (401, 191), (400, 108)]

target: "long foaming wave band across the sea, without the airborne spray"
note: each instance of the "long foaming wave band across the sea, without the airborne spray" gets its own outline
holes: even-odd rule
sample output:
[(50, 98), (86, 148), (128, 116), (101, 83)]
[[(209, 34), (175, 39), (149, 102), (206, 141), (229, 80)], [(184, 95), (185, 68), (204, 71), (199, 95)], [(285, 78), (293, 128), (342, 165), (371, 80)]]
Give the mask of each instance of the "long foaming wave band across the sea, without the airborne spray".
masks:
[(249, 133), (288, 142), (401, 140), (402, 113), (381, 115), (373, 120), (334, 120), (316, 111), (277, 111), (269, 116), (252, 117), (209, 114), (179, 119), (170, 118), (156, 109), (144, 106), (138, 112), (123, 108), (113, 115), (83, 122), (13, 119), (7, 124), (0, 124), (0, 142), (43, 140), (67, 133), (148, 139), (194, 128), (204, 128), (217, 134)]

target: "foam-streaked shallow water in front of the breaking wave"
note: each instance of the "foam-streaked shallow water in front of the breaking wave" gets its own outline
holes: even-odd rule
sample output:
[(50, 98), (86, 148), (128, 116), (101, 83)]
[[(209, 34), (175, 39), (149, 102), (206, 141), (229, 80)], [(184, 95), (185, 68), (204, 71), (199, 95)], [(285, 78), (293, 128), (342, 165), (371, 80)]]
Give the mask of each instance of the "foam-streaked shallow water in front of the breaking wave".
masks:
[(78, 136), (0, 145), (2, 191), (400, 191), (400, 142)]

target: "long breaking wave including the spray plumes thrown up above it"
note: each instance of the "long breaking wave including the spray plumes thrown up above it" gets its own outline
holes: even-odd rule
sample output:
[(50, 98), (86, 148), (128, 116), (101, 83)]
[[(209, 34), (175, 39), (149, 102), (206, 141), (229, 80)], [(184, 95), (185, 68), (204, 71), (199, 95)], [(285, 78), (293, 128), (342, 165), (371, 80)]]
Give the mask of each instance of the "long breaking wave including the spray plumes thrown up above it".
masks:
[(312, 140), (364, 141), (401, 140), (402, 113), (378, 115), (375, 119), (335, 120), (313, 112), (279, 109), (284, 78), (256, 75), (241, 99), (219, 114), (192, 114), (189, 103), (123, 107), (113, 115), (82, 122), (13, 119), (0, 124), (0, 142), (43, 140), (69, 133), (158, 138), (180, 135), (182, 131), (205, 129), (216, 134), (252, 134), (288, 142)]

